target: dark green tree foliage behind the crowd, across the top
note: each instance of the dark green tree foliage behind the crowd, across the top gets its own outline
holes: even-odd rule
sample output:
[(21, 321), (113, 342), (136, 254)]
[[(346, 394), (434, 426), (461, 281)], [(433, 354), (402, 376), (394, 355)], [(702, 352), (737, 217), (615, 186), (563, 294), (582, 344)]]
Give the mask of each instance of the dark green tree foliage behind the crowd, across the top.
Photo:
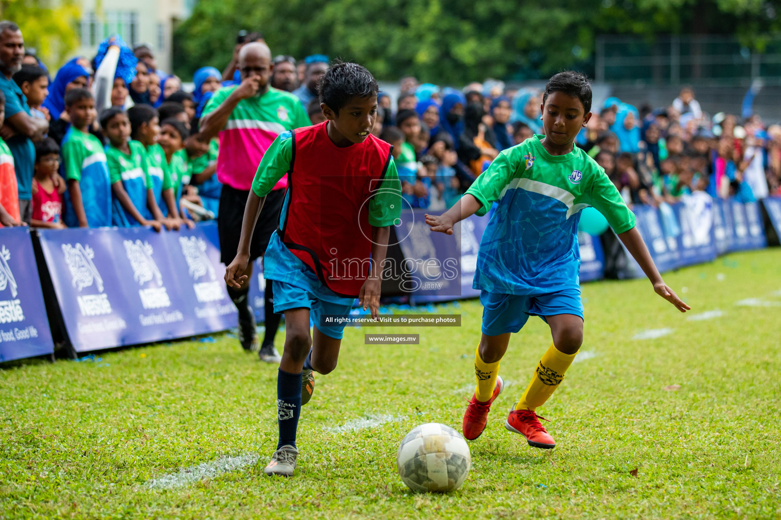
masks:
[(275, 55), (323, 53), (380, 79), (465, 83), (590, 72), (597, 34), (736, 33), (759, 48), (756, 35), (779, 23), (764, 0), (200, 0), (175, 34), (177, 73), (225, 65), (239, 29), (260, 30)]

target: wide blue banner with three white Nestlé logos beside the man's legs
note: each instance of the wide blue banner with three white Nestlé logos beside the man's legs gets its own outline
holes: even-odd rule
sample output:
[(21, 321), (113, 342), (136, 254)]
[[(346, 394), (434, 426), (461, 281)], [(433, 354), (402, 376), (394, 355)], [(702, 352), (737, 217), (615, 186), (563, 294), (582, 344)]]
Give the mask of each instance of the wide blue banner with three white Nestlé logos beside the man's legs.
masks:
[(214, 223), (41, 230), (41, 249), (77, 352), (221, 331), (236, 324)]

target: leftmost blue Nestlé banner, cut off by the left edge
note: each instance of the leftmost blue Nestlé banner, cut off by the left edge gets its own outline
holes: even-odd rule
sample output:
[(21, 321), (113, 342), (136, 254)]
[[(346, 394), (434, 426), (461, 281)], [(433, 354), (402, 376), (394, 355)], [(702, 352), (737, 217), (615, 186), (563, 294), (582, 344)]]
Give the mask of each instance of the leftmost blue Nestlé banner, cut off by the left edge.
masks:
[(0, 361), (54, 352), (29, 228), (0, 229)]

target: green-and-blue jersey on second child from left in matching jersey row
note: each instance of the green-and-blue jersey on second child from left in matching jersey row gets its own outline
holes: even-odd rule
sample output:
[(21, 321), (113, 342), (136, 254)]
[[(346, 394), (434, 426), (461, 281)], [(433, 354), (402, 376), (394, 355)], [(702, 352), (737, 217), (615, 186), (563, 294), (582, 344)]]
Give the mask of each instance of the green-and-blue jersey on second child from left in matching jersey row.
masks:
[[(130, 141), (128, 146), (130, 154), (125, 154), (111, 144), (105, 147), (111, 183), (113, 185), (115, 182), (121, 182), (127, 196), (130, 197), (130, 202), (136, 207), (141, 217), (151, 218), (146, 199), (148, 181), (146, 150), (144, 150), (144, 145), (138, 141)], [(112, 221), (116, 226), (139, 225), (139, 222), (122, 207), (116, 197), (112, 198)]]

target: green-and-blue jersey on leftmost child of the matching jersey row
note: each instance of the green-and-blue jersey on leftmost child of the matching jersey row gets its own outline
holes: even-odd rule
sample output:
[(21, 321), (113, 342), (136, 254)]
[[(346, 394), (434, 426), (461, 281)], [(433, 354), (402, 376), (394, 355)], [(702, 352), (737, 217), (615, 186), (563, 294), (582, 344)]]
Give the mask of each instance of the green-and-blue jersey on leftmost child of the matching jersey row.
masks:
[[(91, 228), (111, 225), (111, 182), (103, 143), (88, 132), (73, 126), (62, 139), (62, 167), (65, 178), (76, 179), (81, 190), (81, 204)], [(70, 191), (65, 193), (66, 225), (75, 228), (79, 220), (73, 210)]]

